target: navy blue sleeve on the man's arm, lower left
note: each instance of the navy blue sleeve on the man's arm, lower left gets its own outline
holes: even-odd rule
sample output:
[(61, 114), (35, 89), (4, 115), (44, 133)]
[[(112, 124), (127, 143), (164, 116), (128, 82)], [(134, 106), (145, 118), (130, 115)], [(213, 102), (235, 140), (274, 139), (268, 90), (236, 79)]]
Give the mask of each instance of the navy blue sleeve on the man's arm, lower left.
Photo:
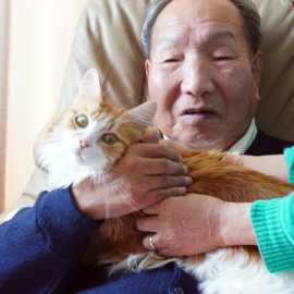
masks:
[(100, 225), (76, 208), (70, 188), (42, 192), (0, 225), (0, 293), (61, 291)]

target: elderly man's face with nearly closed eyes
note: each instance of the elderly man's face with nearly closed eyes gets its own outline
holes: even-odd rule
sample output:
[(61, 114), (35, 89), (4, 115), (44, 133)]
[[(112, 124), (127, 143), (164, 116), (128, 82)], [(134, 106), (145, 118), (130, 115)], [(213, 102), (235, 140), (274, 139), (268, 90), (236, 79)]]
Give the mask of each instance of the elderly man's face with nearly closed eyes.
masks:
[(173, 0), (155, 23), (145, 64), (157, 126), (192, 148), (228, 149), (256, 111), (261, 60), (229, 0)]

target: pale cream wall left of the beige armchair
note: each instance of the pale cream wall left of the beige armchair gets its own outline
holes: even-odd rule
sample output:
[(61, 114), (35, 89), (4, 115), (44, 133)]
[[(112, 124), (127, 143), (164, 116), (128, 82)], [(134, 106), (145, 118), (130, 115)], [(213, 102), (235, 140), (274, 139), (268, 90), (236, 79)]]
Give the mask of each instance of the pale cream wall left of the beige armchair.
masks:
[[(5, 208), (20, 197), (33, 172), (33, 146), (57, 106), (75, 25), (85, 3), (86, 0), (9, 1), (9, 51), (0, 52), (1, 82), (8, 79), (5, 149), (0, 158), (2, 169), (5, 159), (5, 179), (1, 171)], [(3, 71), (5, 60), (8, 71)], [(4, 91), (2, 87), (0, 97)], [(1, 108), (5, 107), (0, 102)], [(1, 130), (1, 138), (3, 134)]]

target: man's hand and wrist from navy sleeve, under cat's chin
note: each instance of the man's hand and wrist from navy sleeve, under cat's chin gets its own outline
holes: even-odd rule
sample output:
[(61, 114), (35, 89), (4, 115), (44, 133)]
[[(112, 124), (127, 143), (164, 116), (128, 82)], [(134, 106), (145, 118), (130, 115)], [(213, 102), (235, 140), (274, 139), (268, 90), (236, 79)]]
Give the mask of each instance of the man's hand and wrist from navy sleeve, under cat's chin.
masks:
[(184, 195), (192, 180), (179, 154), (158, 144), (127, 148), (101, 182), (85, 180), (72, 187), (79, 210), (93, 219), (120, 217), (170, 196)]

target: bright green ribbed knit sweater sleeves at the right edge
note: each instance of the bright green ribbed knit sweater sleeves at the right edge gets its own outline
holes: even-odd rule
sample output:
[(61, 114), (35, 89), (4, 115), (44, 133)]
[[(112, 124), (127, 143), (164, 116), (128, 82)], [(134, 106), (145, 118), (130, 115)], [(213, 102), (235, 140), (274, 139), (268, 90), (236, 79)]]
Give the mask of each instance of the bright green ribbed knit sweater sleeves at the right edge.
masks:
[[(294, 183), (294, 146), (284, 150), (289, 182)], [(294, 192), (271, 200), (257, 200), (250, 218), (262, 260), (270, 272), (294, 269)]]

